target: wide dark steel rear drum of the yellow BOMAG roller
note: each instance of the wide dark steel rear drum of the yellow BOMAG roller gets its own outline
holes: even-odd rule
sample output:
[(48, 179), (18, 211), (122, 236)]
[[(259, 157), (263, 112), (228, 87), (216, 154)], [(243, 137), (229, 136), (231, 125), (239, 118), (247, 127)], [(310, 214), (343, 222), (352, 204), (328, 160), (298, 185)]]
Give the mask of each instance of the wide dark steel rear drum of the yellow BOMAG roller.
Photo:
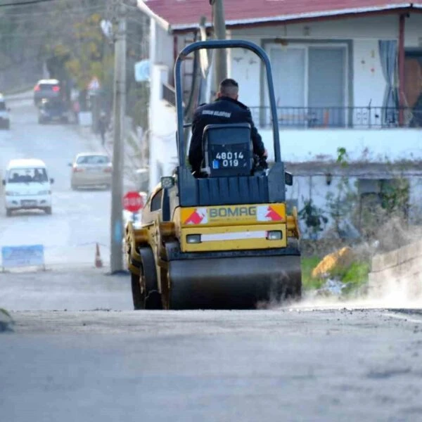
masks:
[(170, 309), (253, 309), (300, 298), (300, 256), (175, 260), (169, 265)]

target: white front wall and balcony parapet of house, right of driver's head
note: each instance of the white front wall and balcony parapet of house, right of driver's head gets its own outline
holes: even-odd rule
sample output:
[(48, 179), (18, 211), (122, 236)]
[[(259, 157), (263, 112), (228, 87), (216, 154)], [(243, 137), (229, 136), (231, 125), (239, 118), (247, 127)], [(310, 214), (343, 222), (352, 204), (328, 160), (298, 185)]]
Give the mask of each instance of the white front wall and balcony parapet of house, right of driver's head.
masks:
[[(405, 22), (405, 47), (418, 47), (422, 41), (422, 15), (411, 15)], [(307, 35), (305, 35), (307, 34)], [(348, 18), (315, 23), (278, 25), (231, 30), (228, 37), (247, 39), (255, 44), (275, 38), (309, 40), (352, 40), (352, 105), (372, 108), (381, 107), (385, 93), (385, 79), (378, 52), (379, 39), (397, 39), (399, 34), (398, 15)], [(273, 68), (273, 73), (276, 68)], [(229, 75), (240, 84), (239, 99), (250, 107), (260, 106), (260, 59), (250, 51), (231, 50), (229, 54)], [(267, 91), (265, 92), (267, 97)], [(355, 122), (361, 124), (379, 122), (376, 114), (361, 110), (365, 117), (354, 112)], [(369, 121), (371, 118), (371, 121)], [(258, 122), (256, 122), (258, 123)], [(260, 129), (262, 139), (274, 158), (272, 131)], [(302, 162), (317, 157), (336, 158), (337, 148), (342, 146), (350, 153), (352, 160), (362, 156), (370, 160), (397, 160), (399, 158), (421, 158), (422, 134), (418, 129), (282, 129), (280, 131), (283, 160)]]

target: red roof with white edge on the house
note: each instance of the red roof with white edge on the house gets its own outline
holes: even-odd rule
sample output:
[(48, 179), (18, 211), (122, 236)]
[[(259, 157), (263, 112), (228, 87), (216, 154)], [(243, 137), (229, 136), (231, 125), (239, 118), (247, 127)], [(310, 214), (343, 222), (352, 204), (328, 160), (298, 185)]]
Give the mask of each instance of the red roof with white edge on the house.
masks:
[[(212, 22), (212, 8), (207, 0), (145, 0), (139, 7), (160, 21), (172, 33), (198, 28), (200, 16)], [(380, 13), (415, 12), (422, 1), (399, 0), (227, 0), (224, 2), (226, 27), (277, 25), (304, 20), (326, 20)]]

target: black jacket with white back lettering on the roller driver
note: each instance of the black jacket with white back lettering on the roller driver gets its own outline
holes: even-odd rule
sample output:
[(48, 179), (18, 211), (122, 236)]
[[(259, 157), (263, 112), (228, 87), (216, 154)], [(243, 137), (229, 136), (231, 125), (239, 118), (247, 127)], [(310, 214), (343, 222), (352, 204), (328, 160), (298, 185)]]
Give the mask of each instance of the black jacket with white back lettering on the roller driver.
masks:
[(213, 103), (199, 106), (193, 115), (192, 139), (189, 147), (189, 163), (192, 166), (192, 171), (198, 172), (203, 161), (202, 139), (205, 126), (224, 123), (249, 123), (252, 129), (253, 152), (262, 157), (265, 151), (264, 143), (253, 124), (249, 108), (240, 101), (229, 97), (220, 97)]

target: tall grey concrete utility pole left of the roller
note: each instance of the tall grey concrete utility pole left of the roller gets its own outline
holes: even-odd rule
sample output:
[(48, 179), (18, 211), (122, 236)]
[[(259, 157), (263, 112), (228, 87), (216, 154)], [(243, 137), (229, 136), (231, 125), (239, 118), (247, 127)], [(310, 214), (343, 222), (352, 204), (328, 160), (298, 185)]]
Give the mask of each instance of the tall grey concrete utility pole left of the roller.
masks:
[(123, 136), (126, 112), (126, 6), (120, 0), (117, 6), (118, 30), (115, 39), (115, 75), (113, 98), (113, 178), (111, 189), (110, 272), (123, 271)]

